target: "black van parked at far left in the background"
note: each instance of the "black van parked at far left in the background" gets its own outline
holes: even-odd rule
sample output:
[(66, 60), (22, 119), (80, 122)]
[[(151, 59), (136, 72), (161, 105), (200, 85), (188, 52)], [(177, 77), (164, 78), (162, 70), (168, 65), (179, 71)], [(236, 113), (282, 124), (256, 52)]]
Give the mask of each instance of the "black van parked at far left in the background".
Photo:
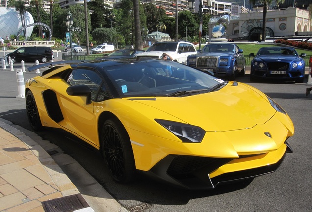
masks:
[(51, 47), (20, 47), (11, 53), (5, 55), (5, 60), (9, 62), (8, 57), (13, 63), (39, 62), (45, 63), (54, 59), (54, 53)]

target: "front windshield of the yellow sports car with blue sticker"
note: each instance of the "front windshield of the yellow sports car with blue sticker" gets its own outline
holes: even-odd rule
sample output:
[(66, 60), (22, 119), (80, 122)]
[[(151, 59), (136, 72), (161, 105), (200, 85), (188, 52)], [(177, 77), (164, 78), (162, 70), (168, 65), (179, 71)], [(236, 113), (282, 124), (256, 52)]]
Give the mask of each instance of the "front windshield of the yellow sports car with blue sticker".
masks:
[(112, 66), (109, 77), (121, 96), (188, 96), (220, 89), (224, 81), (172, 61)]

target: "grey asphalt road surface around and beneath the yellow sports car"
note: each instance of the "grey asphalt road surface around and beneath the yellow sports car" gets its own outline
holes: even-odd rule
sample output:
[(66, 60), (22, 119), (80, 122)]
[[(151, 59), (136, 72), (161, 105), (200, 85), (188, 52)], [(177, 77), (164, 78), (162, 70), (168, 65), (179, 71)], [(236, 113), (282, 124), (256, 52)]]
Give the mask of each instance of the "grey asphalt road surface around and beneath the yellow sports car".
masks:
[[(35, 75), (26, 72), (24, 78)], [(220, 186), (213, 191), (189, 192), (139, 175), (136, 182), (120, 185), (111, 180), (101, 157), (78, 145), (78, 140), (56, 130), (46, 130), (39, 135), (75, 158), (129, 211), (144, 207), (149, 207), (144, 212), (312, 211), (312, 94), (305, 97), (305, 83), (251, 83), (248, 75), (237, 81), (251, 84), (272, 97), (287, 111), (295, 125), (295, 135), (288, 139), (294, 153), (286, 155), (275, 173), (249, 182)], [(0, 69), (0, 90), (0, 117), (30, 130), (25, 99), (16, 98), (15, 72)]]

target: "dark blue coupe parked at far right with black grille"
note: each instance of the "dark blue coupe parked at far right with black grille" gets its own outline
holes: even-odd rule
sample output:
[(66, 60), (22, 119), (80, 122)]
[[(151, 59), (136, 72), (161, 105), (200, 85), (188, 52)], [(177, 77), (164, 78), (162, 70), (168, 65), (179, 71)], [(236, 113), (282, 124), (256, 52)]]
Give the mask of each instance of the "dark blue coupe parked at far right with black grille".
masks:
[(280, 79), (302, 83), (305, 76), (305, 53), (299, 56), (292, 47), (262, 47), (251, 61), (250, 80)]

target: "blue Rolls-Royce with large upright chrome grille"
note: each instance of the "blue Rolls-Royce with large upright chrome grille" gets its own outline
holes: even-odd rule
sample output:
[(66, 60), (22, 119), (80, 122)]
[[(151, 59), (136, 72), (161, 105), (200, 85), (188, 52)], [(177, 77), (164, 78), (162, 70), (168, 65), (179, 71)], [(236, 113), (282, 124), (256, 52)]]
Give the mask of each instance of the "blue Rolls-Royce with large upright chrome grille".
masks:
[(243, 50), (236, 44), (207, 44), (200, 53), (188, 56), (187, 65), (235, 80), (237, 74), (245, 75), (246, 60), (242, 53)]

